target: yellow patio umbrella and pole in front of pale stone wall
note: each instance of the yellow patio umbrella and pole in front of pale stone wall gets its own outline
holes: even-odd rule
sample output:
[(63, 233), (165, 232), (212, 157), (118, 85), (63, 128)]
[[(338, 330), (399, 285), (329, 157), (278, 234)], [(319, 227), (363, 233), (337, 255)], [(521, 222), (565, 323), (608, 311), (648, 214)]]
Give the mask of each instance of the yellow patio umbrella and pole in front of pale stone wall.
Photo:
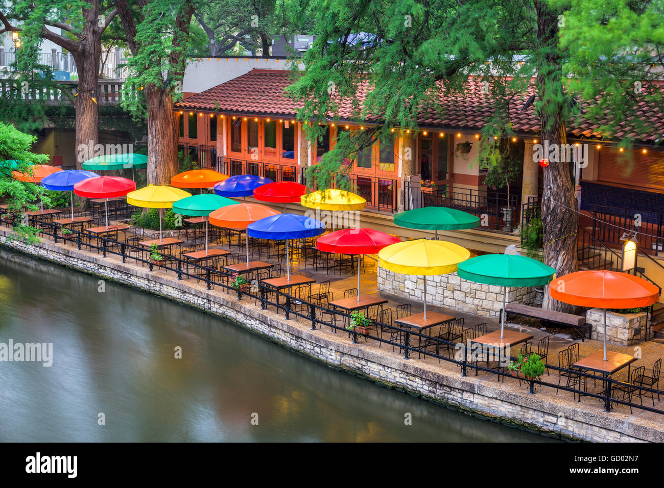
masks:
[(426, 276), (454, 273), (457, 265), (470, 257), (470, 251), (447, 241), (416, 239), (384, 247), (378, 265), (400, 274), (424, 276), (424, 318), (426, 318)]

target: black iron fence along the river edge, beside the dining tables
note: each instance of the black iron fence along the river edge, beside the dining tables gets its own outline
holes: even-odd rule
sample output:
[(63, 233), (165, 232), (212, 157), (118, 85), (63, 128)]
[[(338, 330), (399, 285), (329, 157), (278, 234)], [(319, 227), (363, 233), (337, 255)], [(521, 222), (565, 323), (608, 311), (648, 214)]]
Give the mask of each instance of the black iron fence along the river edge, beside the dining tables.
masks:
[[(414, 357), (414, 355), (417, 354), (418, 358), (424, 356), (425, 358), (432, 357), (438, 359), (438, 361), (446, 361), (446, 363), (451, 363), (459, 369), (461, 377), (465, 377), (475, 371), (475, 375), (480, 372), (489, 373), (490, 375), (497, 376), (499, 380), (504, 379), (505, 376), (509, 377), (511, 373), (505, 368), (491, 368), (489, 367), (489, 363), (487, 363), (487, 367), (485, 367), (485, 359), (487, 361), (492, 357), (495, 359), (497, 355), (497, 360), (501, 364), (506, 363), (509, 359), (516, 359), (511, 355), (508, 356), (507, 351), (501, 356), (502, 349), (491, 349), (491, 346), (487, 346), (486, 349), (477, 349), (477, 347), (475, 347), (476, 345), (473, 345), (472, 343), (474, 335), (473, 330), (470, 328), (463, 330), (460, 341), (450, 341), (444, 337), (432, 337), (432, 335), (424, 334), (423, 332), (417, 332), (416, 330), (409, 328), (402, 328), (394, 324), (384, 324), (378, 320), (371, 320), (371, 327), (369, 330), (359, 332), (354, 327), (350, 326), (351, 316), (349, 314), (330, 308), (327, 303), (319, 300), (305, 299), (301, 296), (294, 296), (282, 292), (276, 288), (267, 286), (260, 280), (252, 281), (248, 289), (243, 291), (232, 285), (232, 274), (227, 273), (223, 269), (215, 269), (198, 263), (192, 263), (191, 261), (183, 260), (175, 255), (165, 255), (163, 262), (157, 264), (150, 259), (149, 249), (146, 249), (145, 247), (132, 245), (116, 239), (110, 239), (85, 230), (72, 231), (72, 233), (64, 238), (60, 234), (62, 231), (60, 225), (49, 223), (47, 221), (38, 221), (32, 218), (29, 219), (29, 224), (34, 225), (35, 227), (41, 227), (41, 234), (51, 237), (56, 243), (65, 241), (71, 243), (78, 249), (86, 249), (88, 251), (102, 253), (104, 257), (115, 255), (122, 258), (122, 263), (134, 261), (137, 264), (141, 264), (141, 266), (147, 265), (150, 271), (154, 271), (155, 268), (158, 268), (173, 273), (174, 276), (177, 276), (177, 280), (183, 280), (186, 278), (205, 282), (208, 290), (219, 288), (220, 291), (226, 292), (226, 294), (236, 294), (238, 300), (254, 300), (254, 304), (260, 303), (262, 310), (268, 310), (268, 308), (272, 307), (278, 313), (283, 313), (286, 320), (291, 320), (291, 318), (295, 318), (295, 320), (298, 321), (304, 320), (311, 324), (311, 330), (329, 328), (330, 331), (335, 334), (348, 334), (352, 338), (353, 343), (357, 343), (361, 339), (365, 339), (365, 341), (377, 341), (380, 347), (386, 345), (386, 347), (392, 347), (392, 350), (400, 351), (403, 353), (405, 359)], [(422, 344), (424, 344), (424, 347), (422, 347)], [(448, 351), (448, 353), (441, 353), (442, 349)], [(620, 404), (629, 406), (630, 410), (632, 408), (637, 408), (647, 412), (664, 414), (664, 410), (655, 408), (654, 406), (654, 396), (657, 395), (659, 400), (659, 395), (664, 395), (664, 391), (659, 389), (645, 387), (643, 385), (638, 385), (637, 383), (625, 383), (608, 377), (599, 377), (593, 373), (588, 373), (587, 371), (581, 371), (579, 369), (565, 369), (548, 364), (546, 365), (546, 372), (551, 373), (552, 376), (542, 375), (539, 379), (522, 378), (519, 381), (525, 381), (528, 385), (529, 393), (531, 394), (537, 393), (535, 390), (535, 387), (537, 386), (556, 389), (556, 392), (560, 390), (573, 393), (574, 395), (597, 398), (598, 400), (602, 400), (604, 409), (607, 412), (611, 411), (613, 404)], [(544, 378), (556, 378), (556, 376), (558, 378), (574, 377), (576, 383), (578, 383), (578, 388), (575, 387), (576, 383), (572, 386), (568, 386), (556, 384), (553, 383), (553, 381), (544, 381)], [(603, 391), (599, 393), (582, 391), (581, 383), (582, 381), (587, 382), (588, 379), (602, 382), (602, 385), (604, 386)], [(627, 400), (625, 400), (624, 395), (623, 398), (618, 398), (617, 394), (614, 396), (613, 393), (616, 391), (629, 391), (630, 394)], [(643, 404), (644, 395), (649, 395), (646, 396), (647, 399), (652, 396), (652, 407)], [(638, 396), (640, 400), (639, 403), (631, 401), (635, 396)]]

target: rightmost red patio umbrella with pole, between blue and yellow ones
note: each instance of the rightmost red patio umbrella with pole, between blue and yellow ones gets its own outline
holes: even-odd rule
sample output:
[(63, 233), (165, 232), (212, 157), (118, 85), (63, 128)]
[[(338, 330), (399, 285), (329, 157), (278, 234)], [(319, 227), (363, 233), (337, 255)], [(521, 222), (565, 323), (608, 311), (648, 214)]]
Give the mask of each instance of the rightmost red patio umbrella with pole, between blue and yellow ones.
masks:
[(316, 247), (325, 253), (357, 254), (357, 301), (360, 301), (360, 255), (376, 254), (383, 247), (401, 242), (394, 235), (374, 229), (341, 229), (319, 237)]

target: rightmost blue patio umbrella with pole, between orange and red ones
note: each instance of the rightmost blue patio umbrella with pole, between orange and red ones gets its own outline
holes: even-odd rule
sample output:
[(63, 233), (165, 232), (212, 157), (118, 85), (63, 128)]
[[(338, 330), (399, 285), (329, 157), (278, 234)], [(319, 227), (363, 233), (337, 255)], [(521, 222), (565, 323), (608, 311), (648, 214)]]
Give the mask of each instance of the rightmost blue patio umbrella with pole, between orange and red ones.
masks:
[(325, 225), (316, 219), (297, 214), (278, 214), (250, 223), (247, 234), (256, 239), (286, 241), (286, 276), (290, 280), (288, 240), (314, 237), (325, 232)]

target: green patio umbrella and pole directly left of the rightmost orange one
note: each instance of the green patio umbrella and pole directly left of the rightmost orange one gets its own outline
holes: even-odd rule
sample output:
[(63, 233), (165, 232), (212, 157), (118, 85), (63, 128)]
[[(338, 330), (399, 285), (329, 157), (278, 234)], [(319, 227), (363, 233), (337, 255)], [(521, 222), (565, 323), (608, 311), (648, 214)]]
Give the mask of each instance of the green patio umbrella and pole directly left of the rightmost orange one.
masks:
[(487, 254), (459, 263), (460, 278), (475, 283), (497, 284), (503, 287), (503, 313), (500, 336), (505, 327), (505, 286), (541, 286), (553, 279), (556, 270), (526, 256)]

